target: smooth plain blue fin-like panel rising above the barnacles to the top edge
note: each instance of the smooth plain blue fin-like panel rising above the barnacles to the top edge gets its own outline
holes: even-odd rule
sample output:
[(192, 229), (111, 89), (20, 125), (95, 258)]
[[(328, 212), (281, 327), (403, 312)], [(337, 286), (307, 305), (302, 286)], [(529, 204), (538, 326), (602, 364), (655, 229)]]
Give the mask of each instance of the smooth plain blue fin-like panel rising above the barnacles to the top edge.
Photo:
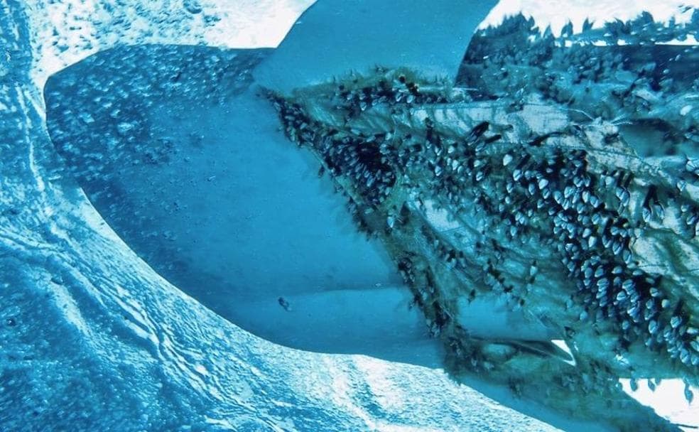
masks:
[(280, 94), (382, 68), (410, 68), (453, 83), (475, 29), (497, 1), (323, 0), (306, 9), (255, 68)]

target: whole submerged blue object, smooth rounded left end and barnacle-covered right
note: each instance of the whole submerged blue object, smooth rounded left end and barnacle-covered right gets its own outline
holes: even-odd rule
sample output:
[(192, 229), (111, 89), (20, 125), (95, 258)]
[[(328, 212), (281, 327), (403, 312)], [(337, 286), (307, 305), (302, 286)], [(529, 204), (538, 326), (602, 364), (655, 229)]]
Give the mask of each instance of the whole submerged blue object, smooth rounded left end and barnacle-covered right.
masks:
[[(116, 48), (50, 77), (49, 133), (139, 256), (251, 333), (678, 430), (618, 379), (697, 376), (691, 80), (475, 33), (492, 6), (318, 1), (273, 50)], [(592, 34), (632, 31), (671, 32)]]

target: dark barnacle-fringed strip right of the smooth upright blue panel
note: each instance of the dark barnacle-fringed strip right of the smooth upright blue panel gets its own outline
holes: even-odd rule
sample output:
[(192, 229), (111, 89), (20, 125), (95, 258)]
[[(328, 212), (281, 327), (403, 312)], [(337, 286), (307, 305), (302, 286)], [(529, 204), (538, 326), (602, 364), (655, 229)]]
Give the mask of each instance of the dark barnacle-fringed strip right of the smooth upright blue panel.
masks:
[(699, 45), (673, 41), (698, 35), (696, 9), (682, 24), (658, 23), (644, 13), (602, 28), (586, 22), (574, 34), (569, 23), (558, 38), (518, 15), (474, 36), (457, 83), (475, 100), (505, 97), (516, 108), (536, 95), (577, 110), (573, 119), (601, 118), (622, 126), (652, 122), (663, 132), (666, 154), (696, 157)]

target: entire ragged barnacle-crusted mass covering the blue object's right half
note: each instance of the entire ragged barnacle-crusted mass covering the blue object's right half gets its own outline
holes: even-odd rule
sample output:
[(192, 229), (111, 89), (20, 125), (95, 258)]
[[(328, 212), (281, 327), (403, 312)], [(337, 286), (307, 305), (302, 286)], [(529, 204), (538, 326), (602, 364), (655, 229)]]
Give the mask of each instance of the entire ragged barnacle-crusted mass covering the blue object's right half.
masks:
[[(692, 148), (699, 124), (695, 89), (672, 82), (673, 70), (663, 82), (655, 67), (634, 69), (612, 48), (571, 50), (570, 29), (524, 37), (533, 26), (523, 20), (475, 38), (466, 88), (379, 69), (271, 98), (359, 227), (384, 242), (455, 371), (490, 374), (580, 416), (555, 389), (594, 390), (631, 416), (640, 408), (620, 395), (619, 377), (699, 376), (699, 162), (677, 154)], [(667, 33), (641, 21), (640, 33)], [(494, 48), (513, 28), (524, 28), (521, 49)], [(648, 127), (673, 150), (639, 154), (632, 132)], [(472, 337), (458, 300), (479, 296), (545, 323), (575, 347), (575, 368), (542, 360), (551, 354), (543, 343)], [(526, 379), (534, 370), (543, 384)], [(607, 416), (634, 427), (618, 410)]]

